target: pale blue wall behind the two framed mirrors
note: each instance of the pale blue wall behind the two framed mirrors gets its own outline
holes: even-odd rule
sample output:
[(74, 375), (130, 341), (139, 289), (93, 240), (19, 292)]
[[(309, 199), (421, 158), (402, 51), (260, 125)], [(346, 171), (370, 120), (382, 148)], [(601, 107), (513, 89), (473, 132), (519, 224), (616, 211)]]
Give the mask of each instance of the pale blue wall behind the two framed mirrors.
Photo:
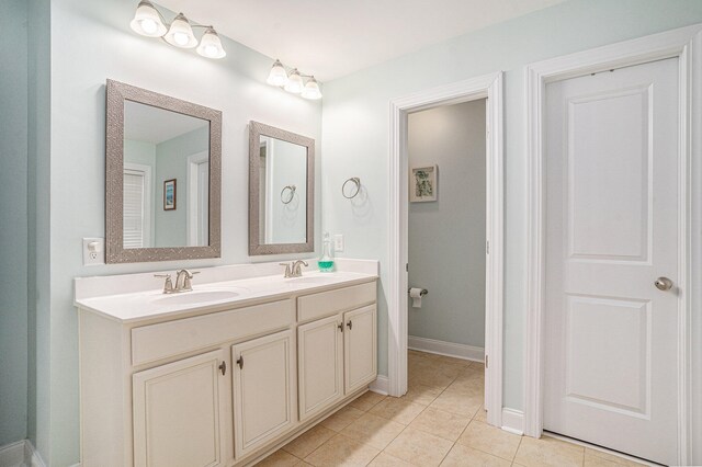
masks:
[[(265, 84), (271, 58), (224, 38), (228, 56), (208, 60), (138, 36), (129, 29), (135, 7), (125, 0), (50, 3), (50, 333), (38, 337), (49, 346), (39, 355), (50, 358), (50, 380), (37, 385), (49, 389), (50, 446), (42, 455), (52, 466), (79, 460), (72, 278), (290, 259), (248, 257), (247, 125), (263, 122), (317, 140), (321, 134), (319, 102)], [(222, 259), (82, 266), (81, 238), (104, 236), (107, 78), (223, 111)]]

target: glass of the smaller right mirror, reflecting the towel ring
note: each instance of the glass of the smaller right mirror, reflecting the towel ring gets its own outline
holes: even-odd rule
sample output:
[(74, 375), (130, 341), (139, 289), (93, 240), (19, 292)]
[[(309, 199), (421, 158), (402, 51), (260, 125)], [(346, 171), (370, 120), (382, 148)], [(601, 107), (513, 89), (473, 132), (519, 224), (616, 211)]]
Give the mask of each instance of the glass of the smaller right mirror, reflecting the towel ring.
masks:
[(307, 241), (307, 148), (261, 135), (259, 242)]

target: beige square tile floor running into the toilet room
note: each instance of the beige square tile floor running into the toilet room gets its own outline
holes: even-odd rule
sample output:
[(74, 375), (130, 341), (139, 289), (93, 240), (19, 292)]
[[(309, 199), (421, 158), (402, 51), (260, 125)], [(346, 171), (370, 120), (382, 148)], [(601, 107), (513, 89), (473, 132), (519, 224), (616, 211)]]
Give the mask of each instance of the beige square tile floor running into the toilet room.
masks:
[(618, 467), (636, 463), (485, 422), (483, 364), (410, 351), (401, 398), (366, 392), (259, 463), (287, 466)]

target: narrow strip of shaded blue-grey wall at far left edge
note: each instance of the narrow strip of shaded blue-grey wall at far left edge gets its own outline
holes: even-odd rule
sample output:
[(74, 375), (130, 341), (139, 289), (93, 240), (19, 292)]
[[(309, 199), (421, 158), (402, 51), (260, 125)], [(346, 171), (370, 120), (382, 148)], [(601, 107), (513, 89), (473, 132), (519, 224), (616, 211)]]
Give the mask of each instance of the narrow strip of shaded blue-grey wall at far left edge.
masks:
[(27, 7), (0, 14), (0, 446), (27, 430)]

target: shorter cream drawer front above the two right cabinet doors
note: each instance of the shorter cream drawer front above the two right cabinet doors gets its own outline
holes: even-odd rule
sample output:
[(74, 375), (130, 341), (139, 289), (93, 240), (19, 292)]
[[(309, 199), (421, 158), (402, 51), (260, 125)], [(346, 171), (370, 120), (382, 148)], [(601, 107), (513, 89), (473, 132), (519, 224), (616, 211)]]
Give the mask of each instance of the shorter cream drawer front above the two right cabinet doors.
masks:
[(297, 298), (297, 320), (301, 322), (309, 321), (310, 319), (370, 305), (375, 303), (376, 299), (375, 282), (305, 295)]

